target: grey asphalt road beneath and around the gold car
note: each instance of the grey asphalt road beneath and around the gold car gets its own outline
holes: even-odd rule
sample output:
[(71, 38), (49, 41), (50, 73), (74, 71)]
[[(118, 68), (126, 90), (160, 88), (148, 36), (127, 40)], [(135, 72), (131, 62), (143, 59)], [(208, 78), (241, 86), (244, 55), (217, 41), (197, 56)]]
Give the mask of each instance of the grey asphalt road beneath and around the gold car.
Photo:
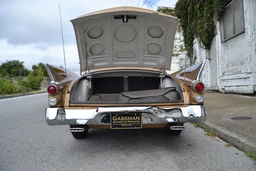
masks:
[(89, 130), (48, 126), (47, 94), (0, 100), (0, 170), (256, 170), (226, 142), (186, 124), (178, 137), (163, 129)]

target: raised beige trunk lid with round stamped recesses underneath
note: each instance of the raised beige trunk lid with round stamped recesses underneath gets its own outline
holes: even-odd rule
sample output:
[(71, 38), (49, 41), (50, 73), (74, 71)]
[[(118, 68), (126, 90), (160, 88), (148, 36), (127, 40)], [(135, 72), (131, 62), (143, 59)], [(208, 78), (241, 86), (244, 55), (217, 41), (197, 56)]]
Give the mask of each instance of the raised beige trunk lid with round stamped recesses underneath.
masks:
[(71, 20), (81, 72), (107, 67), (170, 69), (179, 19), (164, 13), (117, 7)]

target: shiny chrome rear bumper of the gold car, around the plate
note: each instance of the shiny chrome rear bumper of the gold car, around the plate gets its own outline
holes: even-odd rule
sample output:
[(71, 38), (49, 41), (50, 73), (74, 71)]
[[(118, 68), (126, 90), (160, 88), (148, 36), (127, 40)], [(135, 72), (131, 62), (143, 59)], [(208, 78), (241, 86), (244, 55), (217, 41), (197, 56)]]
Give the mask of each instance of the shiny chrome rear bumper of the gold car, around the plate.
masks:
[(110, 125), (111, 113), (142, 113), (142, 124), (193, 122), (203, 123), (206, 105), (189, 105), (182, 108), (115, 107), (97, 109), (47, 108), (48, 125)]

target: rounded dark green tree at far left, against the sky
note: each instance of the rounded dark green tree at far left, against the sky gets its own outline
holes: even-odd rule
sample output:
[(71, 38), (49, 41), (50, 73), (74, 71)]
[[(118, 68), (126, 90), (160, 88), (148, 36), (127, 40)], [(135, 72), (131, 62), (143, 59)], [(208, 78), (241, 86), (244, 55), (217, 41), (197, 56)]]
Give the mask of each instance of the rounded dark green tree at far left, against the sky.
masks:
[(6, 60), (0, 65), (0, 76), (2, 77), (28, 76), (29, 72), (24, 66), (24, 61)]

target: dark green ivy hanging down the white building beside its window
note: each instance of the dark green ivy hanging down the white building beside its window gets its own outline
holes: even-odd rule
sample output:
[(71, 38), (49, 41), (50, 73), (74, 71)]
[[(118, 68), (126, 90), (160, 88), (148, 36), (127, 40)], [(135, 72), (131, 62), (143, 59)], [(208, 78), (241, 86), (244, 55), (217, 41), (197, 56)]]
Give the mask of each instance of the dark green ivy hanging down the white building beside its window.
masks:
[[(190, 65), (196, 60), (194, 53), (194, 39), (198, 38), (206, 50), (210, 50), (211, 40), (214, 37), (214, 14), (220, 21), (226, 2), (228, 0), (179, 0), (175, 11), (164, 9), (162, 12), (175, 14), (180, 18), (180, 26), (183, 30), (185, 49), (190, 59)], [(189, 7), (189, 21), (188, 21)], [(188, 34), (187, 34), (188, 29)], [(186, 42), (186, 40), (188, 40)], [(209, 55), (207, 55), (209, 57)]]

